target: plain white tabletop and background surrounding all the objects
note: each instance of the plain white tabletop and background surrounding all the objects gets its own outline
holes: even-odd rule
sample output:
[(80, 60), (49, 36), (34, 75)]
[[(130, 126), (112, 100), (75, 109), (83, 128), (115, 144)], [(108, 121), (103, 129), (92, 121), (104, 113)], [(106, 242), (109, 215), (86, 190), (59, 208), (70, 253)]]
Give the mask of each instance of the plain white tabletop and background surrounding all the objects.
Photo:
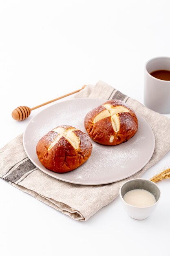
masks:
[[(14, 108), (84, 84), (103, 80), (143, 103), (144, 64), (155, 56), (170, 56), (168, 0), (0, 0), (0, 148), (40, 111), (17, 122)], [(118, 197), (76, 222), (0, 180), (0, 255), (168, 256), (170, 181), (158, 185), (161, 200), (146, 220), (128, 217)]]

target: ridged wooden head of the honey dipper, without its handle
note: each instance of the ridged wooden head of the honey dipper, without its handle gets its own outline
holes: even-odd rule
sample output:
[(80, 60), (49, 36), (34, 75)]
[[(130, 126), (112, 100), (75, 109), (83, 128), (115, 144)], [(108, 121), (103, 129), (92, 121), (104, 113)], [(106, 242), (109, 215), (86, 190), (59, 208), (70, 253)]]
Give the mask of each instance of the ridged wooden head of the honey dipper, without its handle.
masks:
[(29, 117), (30, 114), (31, 114), (31, 108), (20, 106), (13, 110), (12, 117), (17, 121), (22, 121), (22, 120), (25, 120), (27, 117)]

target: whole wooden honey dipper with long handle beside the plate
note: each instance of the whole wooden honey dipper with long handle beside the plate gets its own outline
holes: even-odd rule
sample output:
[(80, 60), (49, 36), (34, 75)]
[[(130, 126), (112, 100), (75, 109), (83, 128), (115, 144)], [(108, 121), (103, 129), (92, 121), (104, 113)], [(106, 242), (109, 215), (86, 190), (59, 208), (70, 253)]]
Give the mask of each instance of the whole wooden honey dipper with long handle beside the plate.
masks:
[(13, 119), (15, 119), (17, 121), (25, 120), (27, 117), (29, 117), (29, 115), (31, 114), (32, 110), (34, 110), (36, 108), (40, 108), (40, 107), (42, 107), (42, 106), (44, 106), (46, 104), (49, 104), (49, 103), (51, 103), (53, 101), (57, 101), (59, 99), (65, 98), (65, 97), (67, 97), (69, 95), (75, 94), (76, 92), (79, 92), (79, 91), (83, 90), (85, 87), (86, 87), (86, 85), (83, 85), (82, 88), (79, 89), (79, 90), (76, 90), (74, 92), (70, 92), (70, 93), (65, 94), (65, 95), (63, 95), (61, 97), (58, 97), (56, 99), (52, 99), (51, 101), (47, 101), (45, 103), (42, 103), (41, 105), (38, 105), (38, 106), (36, 106), (34, 108), (29, 108), (29, 107), (26, 107), (26, 106), (20, 106), (18, 108), (15, 108), (13, 110), (13, 112), (12, 112), (12, 117), (13, 117)]

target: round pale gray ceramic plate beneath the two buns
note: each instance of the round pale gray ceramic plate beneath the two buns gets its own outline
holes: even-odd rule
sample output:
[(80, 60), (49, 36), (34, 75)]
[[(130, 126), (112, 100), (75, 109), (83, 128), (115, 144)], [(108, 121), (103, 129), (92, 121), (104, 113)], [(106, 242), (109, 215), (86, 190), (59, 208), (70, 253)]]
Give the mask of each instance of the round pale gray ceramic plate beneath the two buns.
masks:
[(139, 128), (129, 141), (117, 146), (102, 146), (91, 140), (91, 157), (82, 166), (68, 173), (54, 173), (39, 162), (36, 145), (39, 139), (56, 126), (71, 125), (86, 132), (87, 112), (104, 103), (102, 99), (72, 99), (42, 110), (29, 122), (23, 144), (29, 159), (44, 173), (66, 182), (99, 185), (123, 180), (143, 168), (154, 152), (155, 137), (143, 117), (137, 114)]

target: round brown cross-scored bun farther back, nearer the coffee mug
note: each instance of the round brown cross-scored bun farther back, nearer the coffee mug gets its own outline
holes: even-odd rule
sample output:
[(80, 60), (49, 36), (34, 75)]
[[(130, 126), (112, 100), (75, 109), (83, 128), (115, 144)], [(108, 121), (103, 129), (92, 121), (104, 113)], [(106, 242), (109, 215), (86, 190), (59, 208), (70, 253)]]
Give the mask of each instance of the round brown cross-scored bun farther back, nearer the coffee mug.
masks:
[(99, 144), (117, 145), (135, 135), (138, 121), (132, 108), (115, 99), (88, 112), (84, 126), (91, 139)]

